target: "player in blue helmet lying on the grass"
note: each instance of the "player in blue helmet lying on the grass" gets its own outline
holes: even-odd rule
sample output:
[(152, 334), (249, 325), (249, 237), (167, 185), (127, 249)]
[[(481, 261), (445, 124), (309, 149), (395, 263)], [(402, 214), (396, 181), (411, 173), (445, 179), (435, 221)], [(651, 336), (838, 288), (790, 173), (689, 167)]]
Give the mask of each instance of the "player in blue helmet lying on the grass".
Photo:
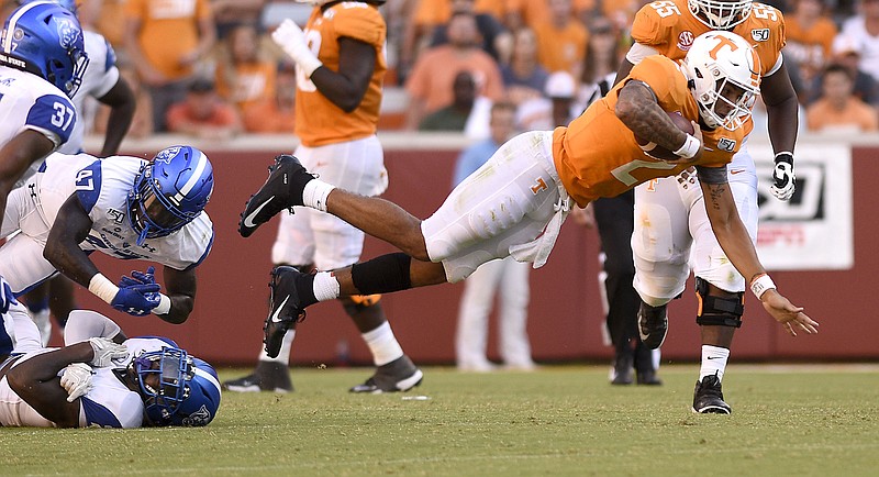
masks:
[(108, 318), (77, 310), (68, 345), (43, 348), (23, 307), (0, 319), (15, 313), (15, 354), (0, 356), (0, 425), (207, 425), (216, 415), (216, 371), (173, 341), (125, 339)]

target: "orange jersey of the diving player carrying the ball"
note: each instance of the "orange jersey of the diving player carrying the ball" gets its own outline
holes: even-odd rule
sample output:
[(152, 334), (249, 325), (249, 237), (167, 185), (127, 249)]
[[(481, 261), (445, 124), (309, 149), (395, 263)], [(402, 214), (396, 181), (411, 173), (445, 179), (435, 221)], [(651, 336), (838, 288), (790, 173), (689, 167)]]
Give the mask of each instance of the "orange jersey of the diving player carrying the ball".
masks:
[(580, 207), (600, 197), (617, 196), (650, 179), (675, 176), (692, 165), (723, 166), (742, 146), (742, 127), (717, 129), (702, 131), (705, 151), (698, 163), (679, 165), (648, 156), (614, 112), (620, 89), (633, 79), (649, 85), (663, 110), (698, 121), (699, 107), (678, 63), (659, 55), (644, 58), (604, 98), (567, 127), (556, 127), (553, 132), (553, 159), (558, 176)]

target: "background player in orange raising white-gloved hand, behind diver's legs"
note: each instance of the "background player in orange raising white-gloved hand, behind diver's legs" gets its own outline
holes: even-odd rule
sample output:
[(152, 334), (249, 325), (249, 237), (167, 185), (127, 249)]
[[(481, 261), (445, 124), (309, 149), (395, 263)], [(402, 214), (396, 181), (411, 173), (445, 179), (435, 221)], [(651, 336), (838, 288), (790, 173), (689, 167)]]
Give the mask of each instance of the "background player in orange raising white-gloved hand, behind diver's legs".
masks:
[[(381, 82), (387, 69), (387, 26), (378, 7), (383, 0), (310, 1), (305, 31), (285, 20), (272, 40), (297, 64), (296, 156), (334, 186), (364, 196), (388, 187), (385, 153), (376, 136)], [(249, 217), (244, 217), (248, 222)], [(364, 234), (342, 220), (310, 209), (282, 214), (271, 260), (304, 273), (329, 270), (360, 258)], [(341, 298), (345, 312), (372, 354), (376, 373), (352, 392), (407, 391), (421, 370), (403, 353), (391, 331), (379, 295)], [(233, 391), (292, 390), (288, 365), (296, 335), (291, 331), (266, 343), (255, 371), (226, 381)]]

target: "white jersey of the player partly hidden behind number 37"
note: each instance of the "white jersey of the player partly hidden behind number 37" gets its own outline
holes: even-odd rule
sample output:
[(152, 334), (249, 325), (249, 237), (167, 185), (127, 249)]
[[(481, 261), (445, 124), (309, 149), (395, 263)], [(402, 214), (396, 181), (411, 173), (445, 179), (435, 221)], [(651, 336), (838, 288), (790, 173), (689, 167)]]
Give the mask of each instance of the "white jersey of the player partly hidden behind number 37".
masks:
[(65, 154), (78, 154), (82, 152), (82, 138), (86, 134), (86, 121), (81, 118), (85, 111), (86, 100), (91, 97), (101, 98), (112, 89), (119, 81), (119, 68), (116, 68), (116, 54), (110, 43), (100, 33), (82, 30), (86, 45), (86, 54), (89, 55), (89, 64), (86, 73), (82, 74), (82, 84), (79, 86), (73, 102), (80, 121), (74, 125), (70, 140), (58, 148)]

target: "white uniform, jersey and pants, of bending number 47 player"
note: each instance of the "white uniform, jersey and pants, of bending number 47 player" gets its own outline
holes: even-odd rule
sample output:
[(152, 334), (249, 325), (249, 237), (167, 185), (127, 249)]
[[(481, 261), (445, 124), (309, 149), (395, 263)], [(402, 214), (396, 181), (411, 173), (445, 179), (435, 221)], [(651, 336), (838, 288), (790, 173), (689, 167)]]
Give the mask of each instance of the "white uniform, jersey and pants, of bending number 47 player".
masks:
[(177, 270), (198, 266), (213, 244), (213, 224), (207, 212), (177, 232), (136, 245), (127, 197), (144, 164), (146, 160), (130, 156), (98, 159), (88, 154), (49, 155), (40, 173), (13, 190), (7, 201), (0, 235), (21, 230), (0, 247), (0, 275), (12, 291), (20, 295), (55, 273), (43, 258), (43, 248), (58, 210), (74, 193), (92, 221), (89, 236), (80, 244), (84, 251), (154, 262)]

